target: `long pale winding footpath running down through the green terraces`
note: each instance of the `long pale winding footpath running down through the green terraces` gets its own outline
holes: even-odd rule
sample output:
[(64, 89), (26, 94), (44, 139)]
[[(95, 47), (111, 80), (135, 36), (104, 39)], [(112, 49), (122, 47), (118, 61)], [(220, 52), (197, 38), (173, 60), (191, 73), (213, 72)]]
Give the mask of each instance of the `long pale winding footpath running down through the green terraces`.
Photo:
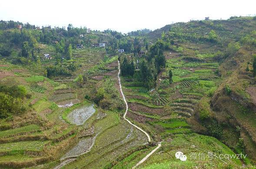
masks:
[[(118, 61), (118, 82), (119, 82), (119, 87), (120, 87), (120, 91), (121, 91), (121, 94), (123, 96), (123, 101), (125, 102), (125, 105), (126, 105), (126, 110), (125, 110), (125, 113), (123, 114), (123, 118), (124, 120), (128, 121), (128, 123), (130, 123), (131, 125), (133, 125), (134, 127), (136, 127), (138, 130), (142, 131), (143, 133), (146, 134), (149, 142), (151, 142), (151, 139), (150, 139), (150, 135), (148, 133), (146, 133), (146, 131), (142, 130), (140, 127), (136, 126), (135, 124), (131, 123), (128, 119), (126, 119), (126, 114), (127, 114), (127, 111), (128, 111), (128, 104), (126, 102), (126, 99), (124, 97), (124, 94), (123, 94), (123, 90), (122, 90), (122, 85), (121, 85), (121, 81), (120, 81), (120, 62)], [(146, 159), (148, 159), (157, 149), (159, 149), (161, 147), (161, 143), (158, 144), (158, 146), (153, 149), (153, 151), (151, 151), (148, 155), (146, 155), (142, 160), (140, 160), (140, 162), (138, 162), (135, 166), (133, 166), (133, 169), (135, 169), (137, 166), (139, 166), (141, 163), (143, 163), (144, 161), (146, 161)]]

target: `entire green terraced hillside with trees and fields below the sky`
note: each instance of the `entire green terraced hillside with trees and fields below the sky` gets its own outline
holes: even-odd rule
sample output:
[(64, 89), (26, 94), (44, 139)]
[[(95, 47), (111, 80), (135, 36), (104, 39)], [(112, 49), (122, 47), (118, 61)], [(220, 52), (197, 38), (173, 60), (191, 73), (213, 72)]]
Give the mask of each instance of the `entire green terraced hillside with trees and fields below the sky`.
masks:
[(136, 168), (254, 169), (255, 75), (255, 16), (127, 34), (1, 21), (0, 168), (131, 169), (160, 145)]

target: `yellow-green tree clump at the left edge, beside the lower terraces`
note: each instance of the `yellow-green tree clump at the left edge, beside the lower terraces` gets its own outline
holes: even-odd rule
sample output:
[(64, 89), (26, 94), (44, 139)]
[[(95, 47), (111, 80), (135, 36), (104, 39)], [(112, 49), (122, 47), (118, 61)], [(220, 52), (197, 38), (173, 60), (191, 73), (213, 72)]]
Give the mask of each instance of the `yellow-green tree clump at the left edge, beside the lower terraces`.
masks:
[(24, 97), (30, 97), (24, 86), (0, 84), (0, 119), (11, 118), (13, 114), (24, 112), (26, 110), (23, 106)]

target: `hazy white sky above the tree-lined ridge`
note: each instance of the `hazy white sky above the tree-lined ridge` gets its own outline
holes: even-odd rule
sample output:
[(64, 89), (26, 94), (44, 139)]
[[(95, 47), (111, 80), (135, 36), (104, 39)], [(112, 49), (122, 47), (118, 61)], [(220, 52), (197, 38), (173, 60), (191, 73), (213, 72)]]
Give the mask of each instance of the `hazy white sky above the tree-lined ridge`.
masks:
[(256, 0), (0, 0), (0, 20), (127, 33), (191, 19), (256, 15)]

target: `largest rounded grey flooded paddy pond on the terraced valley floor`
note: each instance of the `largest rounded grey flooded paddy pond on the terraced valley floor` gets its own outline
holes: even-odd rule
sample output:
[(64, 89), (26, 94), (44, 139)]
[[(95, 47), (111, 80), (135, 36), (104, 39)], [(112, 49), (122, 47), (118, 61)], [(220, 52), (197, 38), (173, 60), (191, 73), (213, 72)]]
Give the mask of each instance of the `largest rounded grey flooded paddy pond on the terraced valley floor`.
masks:
[(68, 114), (67, 118), (71, 123), (76, 124), (77, 126), (83, 125), (83, 123), (95, 113), (93, 106), (94, 104), (75, 109)]

